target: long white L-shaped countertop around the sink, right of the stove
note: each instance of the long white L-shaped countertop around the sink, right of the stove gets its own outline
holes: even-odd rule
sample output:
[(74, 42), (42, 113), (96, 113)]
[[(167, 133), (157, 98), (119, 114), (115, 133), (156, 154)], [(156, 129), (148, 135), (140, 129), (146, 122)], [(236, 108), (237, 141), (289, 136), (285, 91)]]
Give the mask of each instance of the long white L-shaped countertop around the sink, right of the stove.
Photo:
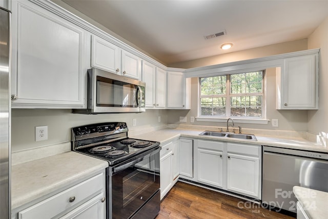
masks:
[(165, 144), (178, 137), (186, 138), (201, 138), (207, 140), (226, 141), (226, 142), (238, 142), (255, 145), (266, 145), (282, 148), (291, 148), (299, 150), (310, 150), (317, 152), (328, 152), (328, 148), (322, 145), (318, 145), (314, 142), (305, 140), (298, 137), (279, 137), (279, 136), (264, 136), (255, 134), (257, 141), (242, 140), (238, 138), (228, 137), (215, 137), (215, 136), (202, 136), (199, 135), (204, 130), (186, 130), (186, 129), (161, 129), (157, 131), (147, 132), (144, 134), (137, 134), (129, 137), (139, 138), (142, 140), (157, 141), (160, 144)]

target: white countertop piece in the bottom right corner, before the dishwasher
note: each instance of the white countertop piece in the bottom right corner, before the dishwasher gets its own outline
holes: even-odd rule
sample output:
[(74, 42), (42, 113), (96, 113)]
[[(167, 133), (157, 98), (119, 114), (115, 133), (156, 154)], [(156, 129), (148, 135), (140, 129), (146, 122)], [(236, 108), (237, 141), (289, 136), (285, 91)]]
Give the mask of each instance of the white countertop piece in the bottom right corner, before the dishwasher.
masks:
[(293, 192), (311, 219), (328, 217), (328, 192), (294, 186)]

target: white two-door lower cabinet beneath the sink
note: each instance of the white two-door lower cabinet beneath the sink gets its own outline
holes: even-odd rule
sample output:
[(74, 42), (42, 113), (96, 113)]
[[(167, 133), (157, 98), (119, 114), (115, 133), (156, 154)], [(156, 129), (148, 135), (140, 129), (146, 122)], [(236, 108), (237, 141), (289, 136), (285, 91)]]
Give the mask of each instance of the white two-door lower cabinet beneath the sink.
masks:
[(261, 198), (261, 146), (196, 140), (195, 181), (237, 194)]

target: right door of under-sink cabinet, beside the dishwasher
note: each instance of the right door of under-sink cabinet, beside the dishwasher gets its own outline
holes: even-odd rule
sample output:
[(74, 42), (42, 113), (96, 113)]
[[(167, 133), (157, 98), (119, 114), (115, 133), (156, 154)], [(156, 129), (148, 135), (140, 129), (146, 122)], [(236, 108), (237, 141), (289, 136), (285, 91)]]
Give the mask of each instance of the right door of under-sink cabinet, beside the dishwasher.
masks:
[(259, 158), (228, 153), (227, 162), (227, 189), (239, 194), (259, 197)]

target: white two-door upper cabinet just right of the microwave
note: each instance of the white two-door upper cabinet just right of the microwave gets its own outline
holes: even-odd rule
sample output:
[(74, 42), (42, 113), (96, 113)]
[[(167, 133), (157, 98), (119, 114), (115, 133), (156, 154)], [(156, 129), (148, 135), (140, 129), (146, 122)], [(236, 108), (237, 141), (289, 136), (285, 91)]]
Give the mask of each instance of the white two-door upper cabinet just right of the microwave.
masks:
[(146, 83), (146, 108), (165, 108), (166, 71), (142, 61), (142, 81)]

